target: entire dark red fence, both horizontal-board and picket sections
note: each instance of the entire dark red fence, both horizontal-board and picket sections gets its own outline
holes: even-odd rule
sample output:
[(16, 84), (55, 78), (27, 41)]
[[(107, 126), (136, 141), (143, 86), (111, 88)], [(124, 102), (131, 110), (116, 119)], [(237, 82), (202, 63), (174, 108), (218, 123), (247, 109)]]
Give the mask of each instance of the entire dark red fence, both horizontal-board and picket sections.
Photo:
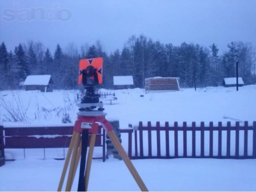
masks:
[[(4, 128), (4, 148), (58, 148), (68, 147), (73, 127)], [(102, 146), (105, 160), (105, 131), (99, 129), (96, 146)], [(0, 126), (1, 132), (1, 126)], [(145, 158), (256, 158), (256, 122), (236, 122), (226, 126), (222, 122), (205, 125), (182, 126), (168, 122), (155, 126), (139, 122), (136, 130), (120, 130), (128, 133), (128, 156), (131, 159)], [(0, 134), (1, 135), (1, 134)], [(52, 135), (45, 137), (45, 135)], [(42, 137), (41, 137), (42, 136)], [(124, 136), (122, 136), (124, 138)], [(3, 139), (1, 139), (3, 142)], [(134, 143), (134, 146), (133, 146)], [(4, 150), (2, 150), (4, 154)]]

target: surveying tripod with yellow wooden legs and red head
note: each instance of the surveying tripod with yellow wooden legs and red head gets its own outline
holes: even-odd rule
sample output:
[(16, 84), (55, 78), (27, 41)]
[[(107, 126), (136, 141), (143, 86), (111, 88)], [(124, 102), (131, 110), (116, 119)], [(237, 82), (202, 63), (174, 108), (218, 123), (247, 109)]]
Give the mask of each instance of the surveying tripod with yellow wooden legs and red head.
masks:
[[(78, 118), (74, 125), (74, 131), (73, 131), (72, 138), (70, 141), (70, 146), (68, 148), (68, 153), (67, 153), (67, 157), (66, 157), (66, 160), (64, 163), (64, 168), (62, 170), (62, 175), (60, 178), (58, 191), (62, 190), (64, 178), (65, 178), (65, 175), (66, 175), (66, 172), (68, 169), (68, 164), (70, 161), (70, 157), (72, 154), (65, 191), (71, 190), (71, 187), (72, 187), (72, 184), (74, 181), (74, 176), (76, 174), (76, 169), (78, 167), (79, 159), (80, 159), (80, 157), (81, 157), (81, 159), (83, 158), (81, 156), (81, 153), (83, 152), (82, 150), (87, 150), (87, 142), (85, 143), (86, 146), (83, 146), (83, 144), (82, 144), (81, 133), (83, 134), (85, 131), (88, 131), (88, 133), (91, 133), (91, 137), (90, 137), (89, 152), (88, 152), (88, 158), (87, 158), (87, 164), (86, 164), (86, 170), (85, 170), (85, 176), (84, 176), (85, 187), (83, 188), (83, 189), (85, 189), (85, 191), (87, 191), (89, 177), (90, 177), (90, 168), (91, 168), (91, 164), (92, 164), (92, 154), (93, 154), (93, 150), (94, 150), (96, 134), (97, 134), (98, 128), (99, 128), (99, 125), (96, 122), (99, 122), (102, 125), (102, 127), (104, 128), (104, 130), (106, 130), (110, 140), (112, 141), (116, 150), (118, 151), (118, 153), (124, 160), (124, 163), (126, 164), (128, 170), (132, 174), (134, 180), (140, 187), (140, 190), (148, 191), (144, 182), (140, 178), (137, 170), (133, 166), (130, 158), (128, 157), (124, 148), (122, 147), (121, 143), (119, 142), (116, 134), (112, 130), (111, 124), (108, 122), (108, 120), (106, 120), (106, 118), (105, 118), (106, 113), (103, 112), (104, 109), (102, 108), (103, 104), (102, 103), (79, 104), (78, 106), (80, 106), (80, 107), (82, 106), (84, 108), (88, 108), (88, 106), (93, 106), (95, 108), (95, 105), (98, 105), (100, 110), (90, 110), (90, 111), (85, 110), (85, 111), (78, 112)], [(83, 135), (82, 135), (82, 137), (83, 137)], [(82, 160), (81, 160), (81, 163), (82, 163)], [(80, 166), (84, 166), (84, 165), (81, 164)], [(80, 173), (81, 173), (81, 167), (80, 167)], [(82, 172), (82, 174), (84, 175), (84, 172)], [(79, 190), (79, 184), (78, 184), (78, 190)]]

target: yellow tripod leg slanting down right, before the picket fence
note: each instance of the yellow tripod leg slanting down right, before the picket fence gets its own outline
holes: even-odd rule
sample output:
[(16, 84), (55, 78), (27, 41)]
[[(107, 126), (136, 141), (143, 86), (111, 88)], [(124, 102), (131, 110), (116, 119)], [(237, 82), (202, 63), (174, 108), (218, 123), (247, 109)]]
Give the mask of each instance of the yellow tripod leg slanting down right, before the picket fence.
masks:
[(124, 160), (124, 163), (126, 164), (127, 168), (129, 169), (130, 173), (132, 174), (134, 180), (136, 181), (136, 183), (140, 187), (140, 190), (141, 191), (148, 191), (146, 185), (144, 184), (144, 182), (140, 178), (140, 175), (138, 174), (138, 172), (135, 169), (134, 165), (132, 164), (130, 158), (126, 154), (124, 148), (122, 147), (121, 143), (119, 142), (119, 140), (118, 140), (116, 134), (114, 133), (114, 131), (113, 130), (107, 131), (107, 133), (108, 133), (108, 136), (109, 136), (110, 140), (114, 144), (116, 150), (118, 151), (119, 155)]

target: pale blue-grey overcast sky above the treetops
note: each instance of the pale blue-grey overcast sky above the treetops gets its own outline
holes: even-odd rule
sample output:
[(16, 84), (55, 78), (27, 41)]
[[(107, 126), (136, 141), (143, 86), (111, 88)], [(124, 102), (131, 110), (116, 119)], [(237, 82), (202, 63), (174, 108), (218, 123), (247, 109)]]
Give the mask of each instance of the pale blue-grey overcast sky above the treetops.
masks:
[(8, 51), (28, 40), (52, 52), (57, 43), (80, 49), (100, 40), (110, 53), (133, 34), (173, 45), (215, 43), (219, 54), (231, 41), (256, 46), (256, 0), (0, 0), (0, 13), (0, 42)]

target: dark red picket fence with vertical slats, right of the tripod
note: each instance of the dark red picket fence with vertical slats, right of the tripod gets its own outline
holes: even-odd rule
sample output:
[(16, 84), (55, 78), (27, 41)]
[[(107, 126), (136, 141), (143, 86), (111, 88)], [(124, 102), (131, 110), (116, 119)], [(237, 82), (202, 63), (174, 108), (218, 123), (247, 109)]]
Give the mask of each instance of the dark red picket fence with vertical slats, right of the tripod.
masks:
[[(242, 126), (239, 122), (235, 126), (231, 126), (230, 122), (226, 126), (222, 122), (218, 126), (214, 126), (213, 122), (205, 126), (201, 122), (199, 127), (195, 122), (192, 126), (187, 126), (186, 122), (183, 126), (178, 126), (178, 122), (174, 122), (173, 126), (168, 122), (165, 126), (160, 126), (160, 122), (156, 122), (156, 126), (151, 126), (151, 122), (143, 126), (140, 122), (138, 130), (134, 131), (134, 142), (132, 159), (256, 158), (256, 122), (252, 126), (248, 126), (248, 122)], [(152, 150), (153, 147), (156, 149)]]

